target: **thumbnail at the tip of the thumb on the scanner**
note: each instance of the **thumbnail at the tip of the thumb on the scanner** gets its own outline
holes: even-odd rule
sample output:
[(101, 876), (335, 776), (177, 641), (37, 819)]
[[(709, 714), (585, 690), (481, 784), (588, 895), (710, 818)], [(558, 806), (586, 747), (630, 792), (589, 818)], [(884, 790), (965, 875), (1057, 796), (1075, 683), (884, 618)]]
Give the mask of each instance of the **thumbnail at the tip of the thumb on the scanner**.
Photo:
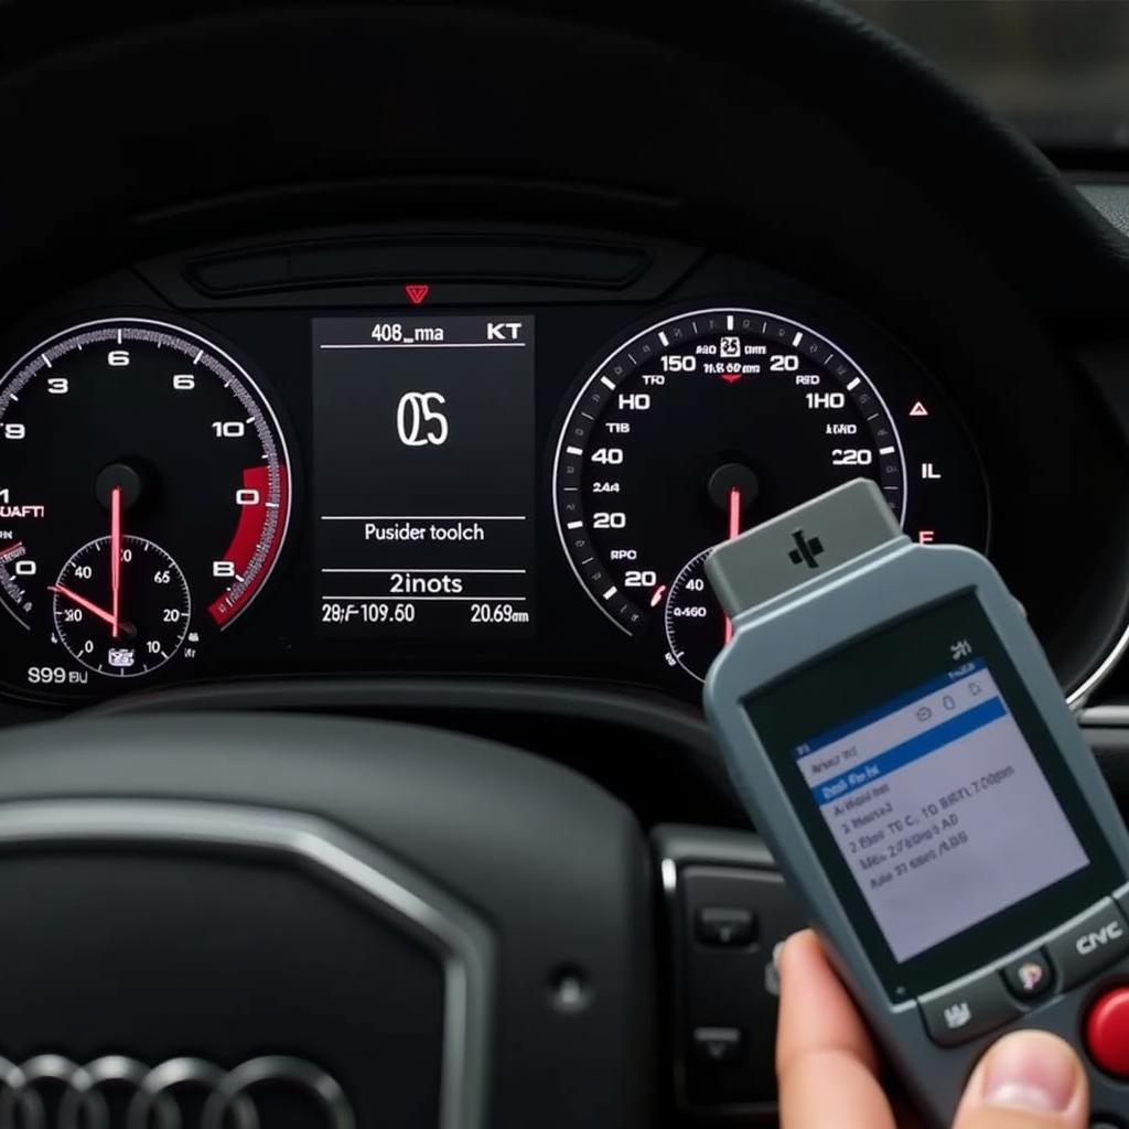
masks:
[(1021, 1031), (984, 1059), (983, 1103), (1043, 1113), (1069, 1109), (1080, 1080), (1074, 1051), (1053, 1035)]

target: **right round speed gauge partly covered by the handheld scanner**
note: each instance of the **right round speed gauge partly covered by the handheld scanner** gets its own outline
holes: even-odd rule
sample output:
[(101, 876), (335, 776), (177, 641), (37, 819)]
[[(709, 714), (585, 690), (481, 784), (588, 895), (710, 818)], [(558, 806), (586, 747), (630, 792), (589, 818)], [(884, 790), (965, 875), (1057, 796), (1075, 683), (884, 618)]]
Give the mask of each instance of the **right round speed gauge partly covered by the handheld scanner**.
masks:
[(659, 631), (667, 663), (700, 679), (728, 632), (704, 551), (832, 487), (873, 479), (903, 525), (920, 495), (919, 540), (984, 548), (982, 490), (902, 435), (940, 449), (947, 409), (889, 378), (893, 395), (830, 338), (758, 309), (693, 310), (621, 343), (581, 385), (554, 465), (561, 543), (592, 601), (628, 634)]

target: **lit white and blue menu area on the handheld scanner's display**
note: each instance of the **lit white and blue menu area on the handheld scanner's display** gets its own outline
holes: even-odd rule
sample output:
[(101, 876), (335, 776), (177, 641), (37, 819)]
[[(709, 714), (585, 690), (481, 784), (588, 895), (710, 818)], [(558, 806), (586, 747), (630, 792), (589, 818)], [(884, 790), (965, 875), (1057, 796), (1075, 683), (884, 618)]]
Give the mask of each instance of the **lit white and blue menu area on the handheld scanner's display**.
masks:
[(795, 758), (899, 961), (1089, 861), (980, 658)]

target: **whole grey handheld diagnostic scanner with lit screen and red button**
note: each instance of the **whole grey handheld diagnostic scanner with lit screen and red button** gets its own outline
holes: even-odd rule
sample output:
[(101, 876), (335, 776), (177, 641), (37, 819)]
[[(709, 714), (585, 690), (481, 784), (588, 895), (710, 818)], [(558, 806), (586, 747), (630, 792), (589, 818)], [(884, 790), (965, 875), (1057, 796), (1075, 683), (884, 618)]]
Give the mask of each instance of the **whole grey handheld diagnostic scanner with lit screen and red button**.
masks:
[(1129, 1124), (1129, 837), (992, 566), (859, 479), (707, 574), (730, 774), (922, 1113), (947, 1127), (986, 1047), (1039, 1027)]

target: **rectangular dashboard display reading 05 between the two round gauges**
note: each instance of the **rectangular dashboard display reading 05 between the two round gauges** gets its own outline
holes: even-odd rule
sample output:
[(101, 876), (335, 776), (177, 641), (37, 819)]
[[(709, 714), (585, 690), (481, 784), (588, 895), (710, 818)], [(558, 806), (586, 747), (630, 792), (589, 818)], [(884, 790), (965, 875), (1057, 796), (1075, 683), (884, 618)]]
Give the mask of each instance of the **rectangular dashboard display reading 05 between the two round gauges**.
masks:
[(313, 347), (322, 632), (531, 634), (533, 318), (317, 317)]

